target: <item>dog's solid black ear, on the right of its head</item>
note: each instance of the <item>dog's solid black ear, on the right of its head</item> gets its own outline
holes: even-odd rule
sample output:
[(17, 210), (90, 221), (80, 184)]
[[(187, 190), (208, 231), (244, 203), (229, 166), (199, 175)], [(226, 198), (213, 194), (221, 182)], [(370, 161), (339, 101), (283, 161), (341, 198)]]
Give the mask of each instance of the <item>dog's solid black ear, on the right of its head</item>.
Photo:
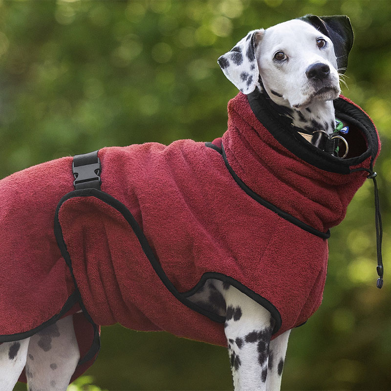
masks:
[(312, 24), (321, 31), (334, 45), (335, 56), (337, 57), (338, 71), (345, 73), (348, 66), (348, 55), (353, 46), (353, 29), (350, 20), (345, 15), (321, 16), (305, 15), (298, 18)]

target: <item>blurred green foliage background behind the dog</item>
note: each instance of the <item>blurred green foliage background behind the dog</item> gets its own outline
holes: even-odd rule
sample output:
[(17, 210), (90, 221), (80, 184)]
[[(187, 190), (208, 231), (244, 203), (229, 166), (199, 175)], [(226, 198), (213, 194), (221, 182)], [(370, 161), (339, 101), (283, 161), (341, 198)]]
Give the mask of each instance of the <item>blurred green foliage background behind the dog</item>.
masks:
[[(386, 274), (377, 289), (367, 181), (332, 229), (324, 302), (291, 333), (282, 390), (391, 390), (390, 1), (0, 1), (0, 177), (104, 146), (211, 141), (237, 93), (217, 58), (249, 30), (306, 13), (348, 15), (355, 31), (343, 92), (383, 142)], [(224, 348), (118, 325), (102, 343), (87, 372), (101, 388), (233, 390)]]

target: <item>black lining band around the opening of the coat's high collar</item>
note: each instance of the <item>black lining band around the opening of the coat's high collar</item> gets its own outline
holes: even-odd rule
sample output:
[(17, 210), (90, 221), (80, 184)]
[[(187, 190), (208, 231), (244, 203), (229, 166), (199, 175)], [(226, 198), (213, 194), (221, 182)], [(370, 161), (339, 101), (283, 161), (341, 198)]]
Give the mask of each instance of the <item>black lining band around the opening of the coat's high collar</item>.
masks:
[(287, 150), (307, 163), (331, 173), (350, 174), (350, 166), (355, 166), (369, 156), (375, 157), (378, 151), (377, 133), (372, 121), (364, 111), (353, 104), (338, 98), (334, 101), (335, 114), (353, 122), (360, 129), (367, 142), (367, 150), (360, 156), (340, 159), (321, 151), (308, 143), (300, 134), (303, 131), (291, 125), (291, 119), (280, 115), (271, 107), (265, 96), (256, 89), (247, 95), (255, 116), (273, 137)]

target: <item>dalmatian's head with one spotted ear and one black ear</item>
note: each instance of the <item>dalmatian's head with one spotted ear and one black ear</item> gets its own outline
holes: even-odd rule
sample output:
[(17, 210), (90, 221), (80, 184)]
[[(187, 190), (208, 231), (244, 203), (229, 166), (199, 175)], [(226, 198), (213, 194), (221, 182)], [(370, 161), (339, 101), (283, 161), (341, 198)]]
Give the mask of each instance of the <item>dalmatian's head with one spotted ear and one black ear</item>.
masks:
[(345, 72), (352, 45), (347, 16), (306, 15), (250, 31), (217, 62), (243, 93), (262, 84), (276, 103), (302, 109), (338, 97), (338, 73)]

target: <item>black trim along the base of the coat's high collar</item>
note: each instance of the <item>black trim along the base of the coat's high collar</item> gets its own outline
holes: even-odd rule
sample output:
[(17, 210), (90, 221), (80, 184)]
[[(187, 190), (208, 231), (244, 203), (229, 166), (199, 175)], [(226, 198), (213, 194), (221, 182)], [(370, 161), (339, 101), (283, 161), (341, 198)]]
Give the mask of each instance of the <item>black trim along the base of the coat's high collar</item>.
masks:
[(322, 232), (318, 231), (314, 227), (311, 227), (310, 225), (304, 223), (303, 221), (299, 220), (297, 217), (294, 217), (290, 215), (289, 213), (284, 212), (282, 209), (277, 207), (276, 205), (272, 204), (269, 201), (266, 201), (264, 198), (262, 198), (260, 195), (255, 193), (253, 190), (251, 190), (240, 178), (239, 176), (235, 173), (234, 169), (230, 166), (227, 160), (227, 156), (225, 155), (224, 147), (221, 144), (221, 150), (216, 147), (216, 145), (212, 143), (205, 143), (206, 147), (212, 148), (216, 150), (220, 155), (222, 156), (224, 163), (229, 171), (229, 173), (232, 175), (234, 178), (235, 182), (239, 185), (239, 187), (251, 198), (256, 200), (258, 203), (260, 203), (262, 206), (264, 206), (267, 209), (270, 209), (272, 212), (277, 213), (280, 217), (283, 219), (291, 222), (292, 224), (297, 225), (301, 229), (303, 229), (306, 232), (309, 232), (312, 235), (318, 236), (319, 238), (322, 239), (328, 239), (330, 237), (330, 230), (327, 230), (327, 232)]

